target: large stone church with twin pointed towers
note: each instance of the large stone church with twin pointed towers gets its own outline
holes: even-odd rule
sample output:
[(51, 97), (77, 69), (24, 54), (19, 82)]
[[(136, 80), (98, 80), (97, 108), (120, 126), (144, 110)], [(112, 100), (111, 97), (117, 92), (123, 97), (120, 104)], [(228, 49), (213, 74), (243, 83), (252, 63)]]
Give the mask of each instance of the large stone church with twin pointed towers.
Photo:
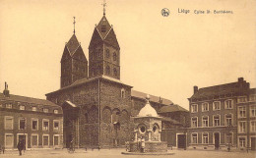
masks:
[[(89, 59), (74, 29), (61, 58), (60, 89), (46, 94), (47, 100), (62, 107), (64, 147), (71, 142), (75, 147), (118, 147), (131, 139), (132, 119), (146, 104), (147, 93), (120, 80), (120, 55), (105, 12), (93, 32)], [(164, 116), (162, 140), (175, 146), (176, 131), (184, 133), (189, 112), (158, 96), (151, 95), (150, 102)]]

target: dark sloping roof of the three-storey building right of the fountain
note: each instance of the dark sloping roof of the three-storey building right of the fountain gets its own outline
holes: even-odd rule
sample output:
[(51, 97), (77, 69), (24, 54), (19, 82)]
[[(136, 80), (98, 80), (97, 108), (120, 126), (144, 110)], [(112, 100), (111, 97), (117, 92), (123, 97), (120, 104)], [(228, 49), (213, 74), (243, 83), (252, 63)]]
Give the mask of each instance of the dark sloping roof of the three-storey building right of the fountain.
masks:
[(248, 91), (249, 84), (243, 80), (242, 82), (230, 82), (215, 86), (208, 86), (198, 89), (191, 98), (202, 98), (216, 95), (223, 95), (228, 93), (241, 93)]

